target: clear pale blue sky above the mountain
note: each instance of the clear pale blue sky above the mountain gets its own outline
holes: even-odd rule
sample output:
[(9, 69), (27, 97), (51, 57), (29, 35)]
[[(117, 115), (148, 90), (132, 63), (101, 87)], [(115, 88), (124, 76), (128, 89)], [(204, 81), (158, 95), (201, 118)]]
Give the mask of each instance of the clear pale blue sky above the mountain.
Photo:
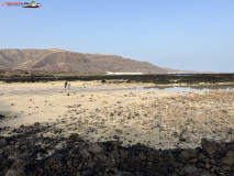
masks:
[(0, 6), (0, 48), (62, 48), (234, 73), (234, 0), (35, 2), (42, 7)]

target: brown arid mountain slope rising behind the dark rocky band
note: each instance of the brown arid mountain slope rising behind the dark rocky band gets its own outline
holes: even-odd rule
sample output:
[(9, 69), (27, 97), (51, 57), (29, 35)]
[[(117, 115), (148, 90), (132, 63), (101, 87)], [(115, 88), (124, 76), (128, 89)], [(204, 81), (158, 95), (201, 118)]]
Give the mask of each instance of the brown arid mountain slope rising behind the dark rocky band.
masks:
[(78, 73), (166, 74), (163, 68), (115, 55), (82, 54), (63, 50), (0, 50), (0, 69)]

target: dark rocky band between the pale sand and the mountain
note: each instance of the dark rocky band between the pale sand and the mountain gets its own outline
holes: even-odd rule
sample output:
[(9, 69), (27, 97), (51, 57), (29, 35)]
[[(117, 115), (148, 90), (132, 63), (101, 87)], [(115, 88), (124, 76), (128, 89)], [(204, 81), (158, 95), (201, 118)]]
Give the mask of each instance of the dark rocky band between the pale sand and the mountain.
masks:
[[(107, 82), (153, 82), (165, 85), (161, 88), (169, 88), (170, 84), (225, 84), (229, 86), (234, 82), (234, 74), (188, 74), (188, 75), (80, 75), (78, 73), (59, 72), (40, 72), (40, 70), (12, 70), (0, 69), (0, 81), (5, 82), (34, 82), (34, 81), (54, 81), (54, 80), (100, 80)], [(225, 88), (225, 85), (224, 88)], [(219, 85), (222, 86), (222, 85)], [(207, 86), (197, 86), (198, 89), (210, 88)], [(215, 89), (215, 87), (213, 87)]]

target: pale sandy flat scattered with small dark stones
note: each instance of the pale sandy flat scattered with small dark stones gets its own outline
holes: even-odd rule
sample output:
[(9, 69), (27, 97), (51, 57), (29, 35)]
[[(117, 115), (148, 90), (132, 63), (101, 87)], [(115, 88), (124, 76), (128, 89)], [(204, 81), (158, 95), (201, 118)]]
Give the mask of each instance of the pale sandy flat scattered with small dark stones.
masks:
[(78, 133), (91, 142), (154, 148), (194, 148), (202, 138), (234, 139), (234, 91), (135, 89), (144, 86), (153, 85), (71, 81), (65, 90), (63, 81), (0, 84), (0, 113), (8, 117), (0, 128), (51, 123), (65, 136)]

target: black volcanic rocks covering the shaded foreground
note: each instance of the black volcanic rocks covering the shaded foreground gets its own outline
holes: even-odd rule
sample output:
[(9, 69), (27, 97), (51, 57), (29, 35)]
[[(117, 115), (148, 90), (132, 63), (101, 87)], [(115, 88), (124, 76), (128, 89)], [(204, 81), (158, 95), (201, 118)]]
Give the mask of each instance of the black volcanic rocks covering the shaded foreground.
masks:
[[(8, 130), (0, 129), (1, 132)], [(55, 138), (46, 136), (52, 132)], [(63, 136), (47, 124), (13, 129), (0, 136), (0, 175), (233, 175), (234, 141), (201, 140), (194, 150), (155, 150), (142, 144), (124, 147), (119, 141), (88, 142), (79, 134)]]

